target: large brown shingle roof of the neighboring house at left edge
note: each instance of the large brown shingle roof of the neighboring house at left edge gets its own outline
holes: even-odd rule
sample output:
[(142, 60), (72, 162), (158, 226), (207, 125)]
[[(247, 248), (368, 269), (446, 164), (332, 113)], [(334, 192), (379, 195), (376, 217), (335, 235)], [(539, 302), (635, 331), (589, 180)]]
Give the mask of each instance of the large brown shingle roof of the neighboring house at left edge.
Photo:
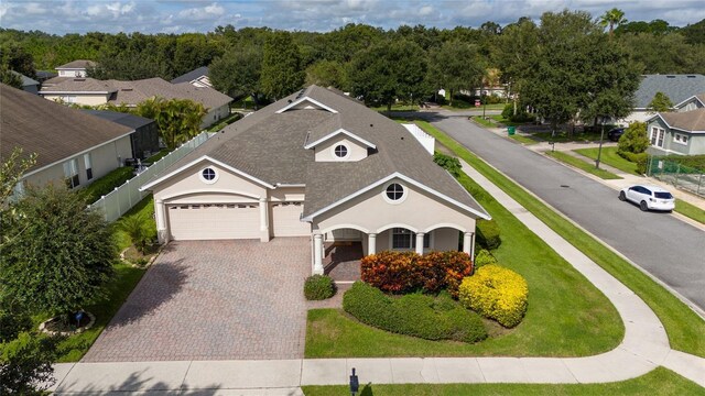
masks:
[(36, 153), (36, 169), (132, 132), (36, 95), (0, 85), (0, 154)]

